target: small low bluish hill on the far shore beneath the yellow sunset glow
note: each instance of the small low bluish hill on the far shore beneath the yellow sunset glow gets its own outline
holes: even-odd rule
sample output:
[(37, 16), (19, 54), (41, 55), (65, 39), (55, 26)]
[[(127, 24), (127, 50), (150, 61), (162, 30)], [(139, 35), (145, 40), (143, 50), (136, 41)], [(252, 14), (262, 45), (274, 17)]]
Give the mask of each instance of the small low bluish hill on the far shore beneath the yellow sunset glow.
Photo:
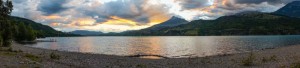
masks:
[(95, 32), (95, 31), (86, 31), (86, 30), (76, 30), (70, 32), (72, 34), (78, 34), (78, 35), (86, 35), (86, 36), (94, 36), (94, 35), (100, 35), (103, 34), (102, 32)]

